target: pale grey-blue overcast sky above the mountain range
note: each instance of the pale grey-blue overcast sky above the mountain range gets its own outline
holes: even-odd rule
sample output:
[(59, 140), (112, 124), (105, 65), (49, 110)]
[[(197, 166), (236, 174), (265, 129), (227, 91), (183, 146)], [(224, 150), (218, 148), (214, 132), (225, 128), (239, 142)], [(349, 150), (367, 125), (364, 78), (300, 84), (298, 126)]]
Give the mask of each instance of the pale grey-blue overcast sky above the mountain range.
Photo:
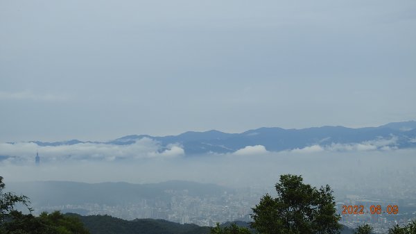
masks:
[(0, 0), (0, 141), (416, 119), (416, 1)]

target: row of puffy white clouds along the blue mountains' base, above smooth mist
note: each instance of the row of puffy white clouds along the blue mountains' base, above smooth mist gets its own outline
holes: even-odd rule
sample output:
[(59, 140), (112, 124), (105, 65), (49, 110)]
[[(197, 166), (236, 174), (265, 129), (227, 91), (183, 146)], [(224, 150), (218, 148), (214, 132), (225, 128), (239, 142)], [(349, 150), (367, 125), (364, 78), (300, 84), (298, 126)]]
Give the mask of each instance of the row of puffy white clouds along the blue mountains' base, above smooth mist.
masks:
[[(379, 137), (360, 143), (331, 143), (313, 144), (308, 147), (281, 151), (283, 153), (337, 153), (337, 152), (370, 152), (370, 151), (395, 151), (397, 150), (396, 136), (388, 138)], [(33, 164), (35, 155), (39, 152), (42, 163), (61, 161), (116, 161), (116, 160), (137, 160), (142, 158), (177, 158), (185, 156), (184, 147), (180, 144), (168, 144), (163, 146), (160, 142), (144, 137), (137, 140), (135, 144), (117, 145), (104, 143), (80, 143), (72, 145), (46, 146), (41, 147), (33, 142), (18, 142), (14, 144), (1, 143), (0, 156), (9, 156), (0, 160), (0, 164), (19, 163)], [(214, 153), (219, 156), (261, 156), (265, 154), (279, 153), (271, 152), (263, 145), (246, 146), (233, 153)], [(0, 158), (1, 159), (1, 158)]]

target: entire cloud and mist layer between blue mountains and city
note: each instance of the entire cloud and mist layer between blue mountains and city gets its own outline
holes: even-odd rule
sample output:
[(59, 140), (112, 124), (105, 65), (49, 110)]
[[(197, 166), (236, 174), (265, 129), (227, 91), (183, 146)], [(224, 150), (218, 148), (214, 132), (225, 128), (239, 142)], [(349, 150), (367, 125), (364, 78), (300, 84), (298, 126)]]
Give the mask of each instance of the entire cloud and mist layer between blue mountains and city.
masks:
[[(0, 144), (0, 176), (10, 181), (157, 183), (169, 180), (264, 187), (273, 192), (281, 174), (300, 174), (307, 183), (329, 184), (336, 192), (413, 191), (416, 149), (396, 149), (397, 138), (357, 144), (311, 145), (271, 152), (263, 145), (234, 153), (187, 156), (180, 144), (163, 146), (142, 138), (135, 144), (81, 143), (40, 147)], [(36, 151), (41, 163), (35, 166)], [(4, 159), (10, 156), (11, 158)], [(401, 183), (397, 183), (401, 181)], [(391, 190), (389, 190), (391, 191)], [(395, 197), (395, 194), (385, 196)], [(414, 197), (406, 194), (405, 197)]]

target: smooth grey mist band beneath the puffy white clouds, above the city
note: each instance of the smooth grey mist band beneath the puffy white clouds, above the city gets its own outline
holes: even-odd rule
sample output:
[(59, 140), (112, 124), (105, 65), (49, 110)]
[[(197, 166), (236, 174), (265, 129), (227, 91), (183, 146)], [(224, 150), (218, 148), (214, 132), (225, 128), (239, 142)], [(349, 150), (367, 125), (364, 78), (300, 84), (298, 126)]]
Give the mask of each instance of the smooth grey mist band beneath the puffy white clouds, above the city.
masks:
[[(178, 147), (179, 148), (179, 147)], [(165, 154), (177, 149), (173, 146)], [(254, 149), (261, 147), (254, 147)], [(253, 148), (249, 148), (253, 149)], [(312, 147), (313, 149), (313, 147)], [(180, 150), (178, 150), (180, 151)], [(313, 151), (313, 150), (312, 150)], [(154, 152), (153, 152), (154, 153)], [(0, 163), (6, 183), (17, 181), (79, 181), (157, 183), (170, 180), (216, 183), (231, 187), (263, 187), (273, 192), (281, 174), (299, 174), (316, 186), (329, 184), (337, 193), (372, 194), (401, 191), (408, 197), (416, 186), (416, 149), (392, 151), (281, 151), (258, 155), (157, 155), (135, 160), (66, 160)], [(33, 158), (33, 157), (32, 157)], [(397, 183), (400, 181), (400, 183)], [(388, 190), (388, 188), (392, 188)], [(390, 191), (390, 194), (388, 193)], [(384, 196), (384, 195), (383, 195)]]

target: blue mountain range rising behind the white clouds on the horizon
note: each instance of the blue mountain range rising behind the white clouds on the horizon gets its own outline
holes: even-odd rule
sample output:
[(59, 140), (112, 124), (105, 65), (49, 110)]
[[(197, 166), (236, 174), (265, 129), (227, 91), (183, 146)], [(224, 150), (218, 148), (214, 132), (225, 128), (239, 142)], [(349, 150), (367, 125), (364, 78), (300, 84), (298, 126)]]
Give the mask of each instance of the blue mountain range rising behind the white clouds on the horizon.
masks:
[(247, 146), (262, 145), (268, 151), (302, 149), (319, 145), (331, 147), (339, 144), (367, 144), (382, 149), (390, 147), (403, 149), (416, 147), (416, 121), (395, 122), (378, 127), (346, 128), (343, 126), (322, 126), (302, 129), (257, 128), (243, 133), (223, 133), (216, 130), (205, 132), (189, 131), (180, 135), (154, 137), (151, 135), (127, 135), (108, 142), (38, 142), (39, 146), (59, 146), (81, 143), (135, 144), (147, 137), (159, 142), (162, 147), (180, 144), (186, 155), (205, 153), (232, 153)]

